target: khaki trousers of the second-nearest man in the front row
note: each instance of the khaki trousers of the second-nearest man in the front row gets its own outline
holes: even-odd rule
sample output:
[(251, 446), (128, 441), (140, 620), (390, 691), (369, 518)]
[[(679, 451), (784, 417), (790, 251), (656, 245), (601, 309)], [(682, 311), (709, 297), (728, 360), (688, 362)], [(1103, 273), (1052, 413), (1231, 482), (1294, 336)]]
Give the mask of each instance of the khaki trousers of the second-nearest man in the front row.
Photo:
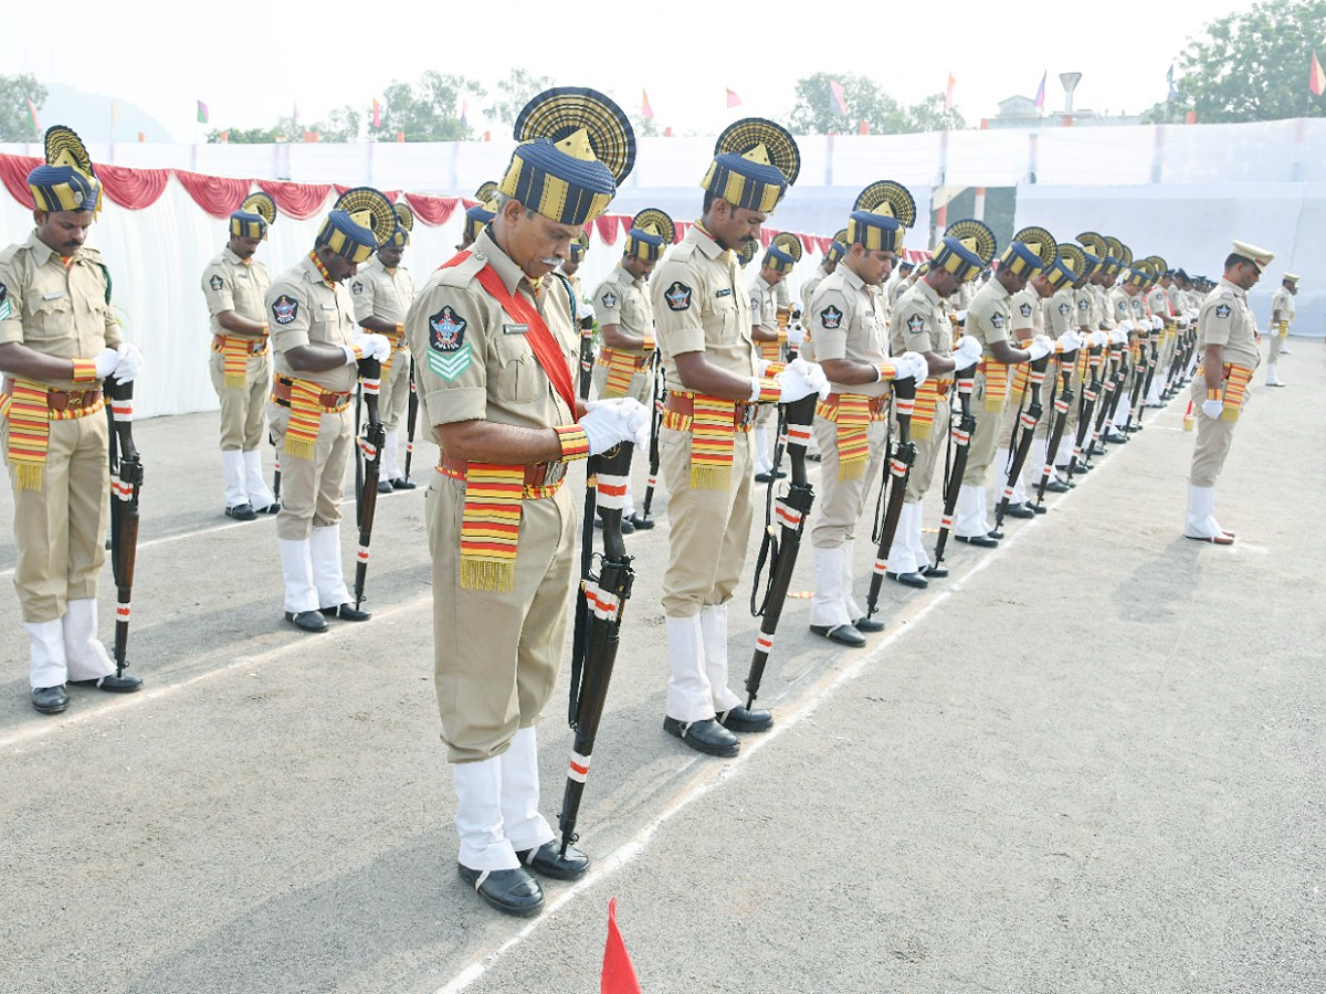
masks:
[(754, 478), (749, 432), (732, 436), (732, 485), (691, 489), (691, 433), (659, 428), (659, 470), (667, 486), (668, 565), (663, 614), (693, 618), (701, 607), (725, 604), (745, 566)]

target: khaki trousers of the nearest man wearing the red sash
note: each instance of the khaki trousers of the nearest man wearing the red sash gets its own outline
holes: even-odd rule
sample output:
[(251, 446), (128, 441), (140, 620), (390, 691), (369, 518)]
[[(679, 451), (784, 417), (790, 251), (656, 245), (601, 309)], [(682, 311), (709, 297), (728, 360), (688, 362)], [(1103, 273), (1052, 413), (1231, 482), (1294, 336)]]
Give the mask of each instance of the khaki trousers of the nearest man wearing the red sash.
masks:
[(434, 684), (448, 762), (504, 753), (553, 693), (575, 588), (575, 509), (562, 486), (524, 501), (509, 591), (460, 586), (465, 484), (434, 473), (426, 494), (432, 553)]

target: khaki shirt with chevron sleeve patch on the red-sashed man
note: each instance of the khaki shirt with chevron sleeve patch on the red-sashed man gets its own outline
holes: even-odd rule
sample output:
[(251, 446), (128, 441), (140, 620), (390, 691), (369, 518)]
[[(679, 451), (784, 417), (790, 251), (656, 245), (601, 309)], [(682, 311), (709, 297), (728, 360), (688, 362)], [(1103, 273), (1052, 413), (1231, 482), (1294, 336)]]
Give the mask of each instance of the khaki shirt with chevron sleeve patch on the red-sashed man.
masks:
[[(536, 288), (485, 229), (460, 265), (435, 272), (415, 297), (406, 334), (430, 424), (483, 419), (522, 428), (572, 424), (574, 412), (553, 388), (517, 323), (479, 284), (491, 265), (511, 294), (533, 301), (569, 368), (578, 364), (579, 335), (566, 318), (560, 280)], [(561, 301), (557, 301), (561, 297)], [(574, 383), (574, 378), (573, 378)]]

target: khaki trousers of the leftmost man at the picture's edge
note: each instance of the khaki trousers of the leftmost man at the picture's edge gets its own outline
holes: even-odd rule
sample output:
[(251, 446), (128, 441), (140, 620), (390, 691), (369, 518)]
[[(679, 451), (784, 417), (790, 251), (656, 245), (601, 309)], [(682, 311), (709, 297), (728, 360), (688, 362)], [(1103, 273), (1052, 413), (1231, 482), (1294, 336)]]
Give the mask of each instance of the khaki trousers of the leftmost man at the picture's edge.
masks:
[[(97, 596), (106, 562), (110, 468), (103, 411), (50, 421), (40, 490), (13, 492), (13, 586), (28, 624), (57, 622), (70, 600)], [(0, 421), (8, 465), (9, 421)], [(17, 473), (9, 467), (9, 484)]]

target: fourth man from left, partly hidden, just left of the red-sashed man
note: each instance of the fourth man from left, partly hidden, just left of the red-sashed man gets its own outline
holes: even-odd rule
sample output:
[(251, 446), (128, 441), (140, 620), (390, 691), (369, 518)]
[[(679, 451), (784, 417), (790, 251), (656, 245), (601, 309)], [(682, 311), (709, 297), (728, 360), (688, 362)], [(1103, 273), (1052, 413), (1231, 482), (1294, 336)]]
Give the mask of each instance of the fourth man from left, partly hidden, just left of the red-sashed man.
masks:
[(378, 398), (378, 412), (386, 432), (378, 493), (415, 489), (400, 470), (400, 440), (396, 431), (410, 403), (412, 357), (404, 335), (404, 319), (414, 301), (414, 277), (400, 265), (400, 258), (410, 244), (414, 212), (407, 204), (396, 204), (394, 209), (396, 224), (391, 235), (350, 280), (354, 319), (359, 322), (359, 327), (391, 342), (391, 357), (382, 363)]

